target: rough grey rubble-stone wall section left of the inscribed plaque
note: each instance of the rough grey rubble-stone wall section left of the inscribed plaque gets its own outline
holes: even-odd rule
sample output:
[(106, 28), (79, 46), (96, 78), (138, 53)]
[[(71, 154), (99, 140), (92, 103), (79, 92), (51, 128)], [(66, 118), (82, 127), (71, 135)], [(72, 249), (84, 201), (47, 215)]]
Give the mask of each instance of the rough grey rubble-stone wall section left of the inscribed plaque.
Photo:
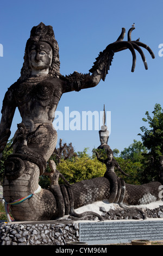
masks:
[(67, 245), (79, 241), (77, 223), (0, 223), (0, 245)]

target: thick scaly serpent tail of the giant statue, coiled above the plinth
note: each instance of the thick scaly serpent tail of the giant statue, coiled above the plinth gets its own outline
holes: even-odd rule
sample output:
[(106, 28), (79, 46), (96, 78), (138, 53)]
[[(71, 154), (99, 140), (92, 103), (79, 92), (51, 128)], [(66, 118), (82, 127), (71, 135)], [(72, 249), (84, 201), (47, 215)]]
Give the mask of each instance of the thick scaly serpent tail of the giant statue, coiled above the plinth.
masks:
[[(39, 167), (29, 161), (24, 161), (24, 165), (24, 173), (20, 177), (15, 180), (4, 179), (4, 198), (7, 202), (26, 197), (37, 190), (39, 186)], [(127, 205), (140, 205), (159, 200), (160, 185), (160, 182), (151, 182), (140, 186), (126, 184), (123, 203)], [(65, 185), (62, 186), (65, 187)], [(108, 199), (110, 195), (110, 182), (104, 177), (99, 177), (77, 182), (71, 186), (71, 189), (74, 199), (73, 208), (77, 209), (93, 202)], [(69, 198), (67, 197), (69, 212), (65, 211), (65, 214), (71, 213), (68, 200)], [(68, 207), (66, 208), (68, 209)], [(21, 204), (11, 205), (11, 214), (16, 221), (55, 220), (55, 218), (60, 216), (57, 198), (55, 198), (51, 191), (43, 189)]]

